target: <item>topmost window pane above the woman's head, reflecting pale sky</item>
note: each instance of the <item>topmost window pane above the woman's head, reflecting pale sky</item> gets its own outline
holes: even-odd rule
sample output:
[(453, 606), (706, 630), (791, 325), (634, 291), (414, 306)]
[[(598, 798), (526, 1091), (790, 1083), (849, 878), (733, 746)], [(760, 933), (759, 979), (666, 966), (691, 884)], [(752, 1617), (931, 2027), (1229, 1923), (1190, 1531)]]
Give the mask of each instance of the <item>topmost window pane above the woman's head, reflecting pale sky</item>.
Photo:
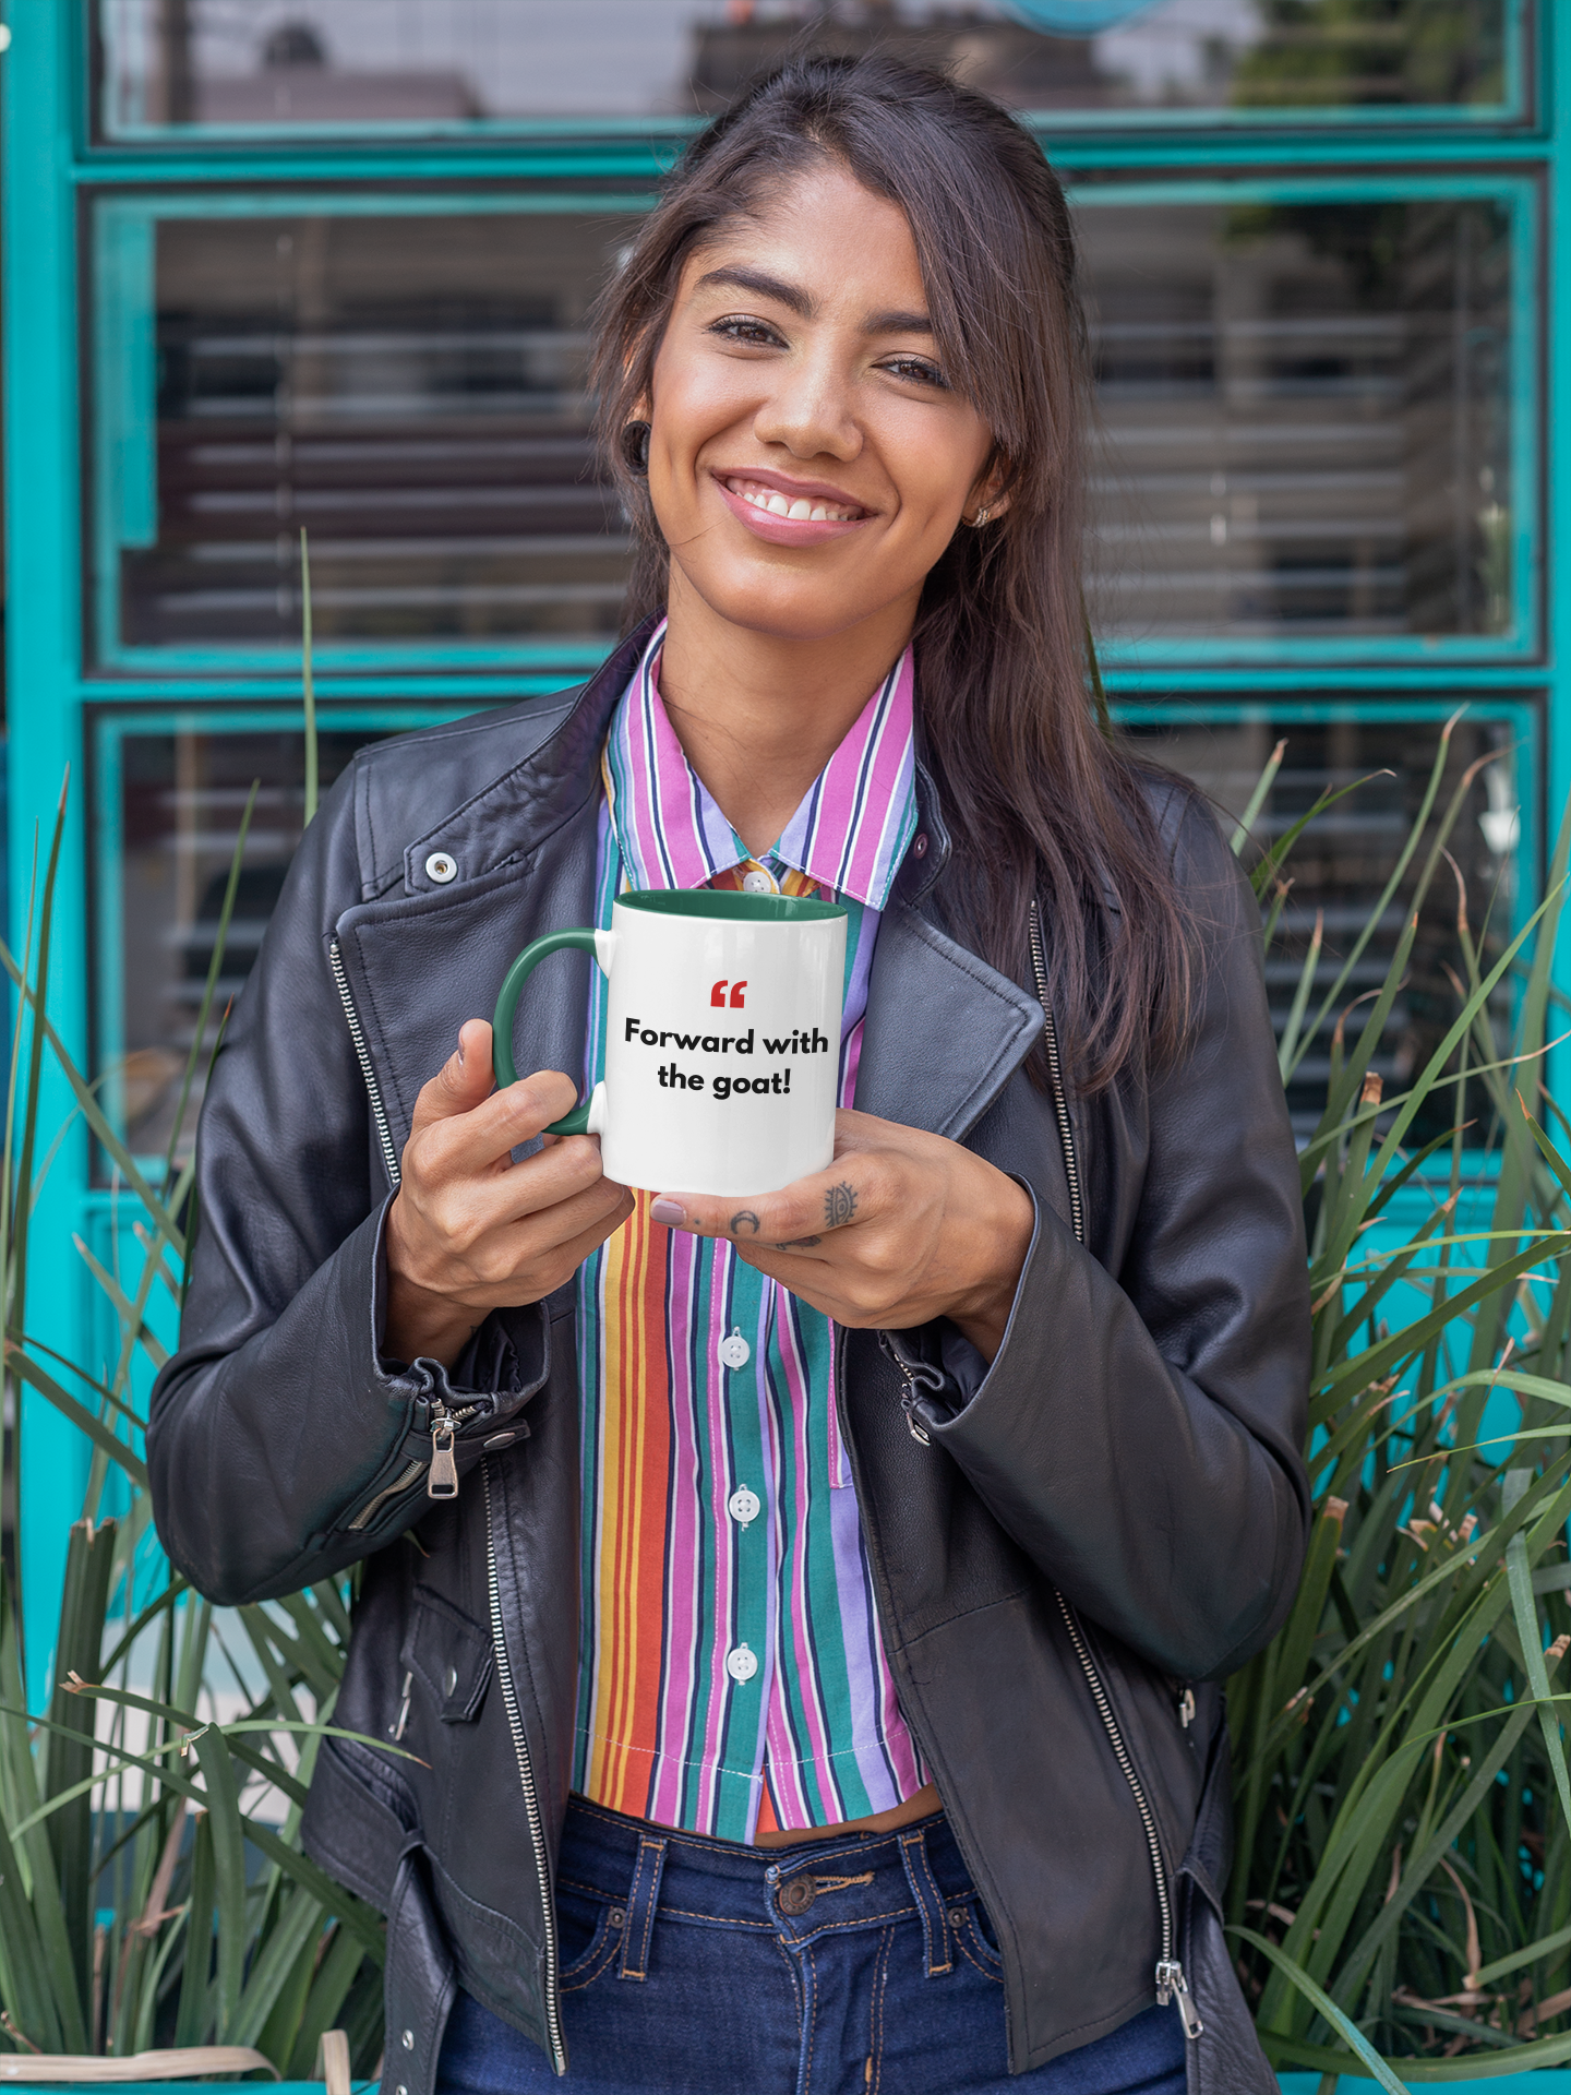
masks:
[[(1512, 0), (101, 0), (103, 128), (706, 115), (871, 44), (1049, 122), (1519, 113)], [(1079, 34), (1075, 34), (1079, 31)]]

